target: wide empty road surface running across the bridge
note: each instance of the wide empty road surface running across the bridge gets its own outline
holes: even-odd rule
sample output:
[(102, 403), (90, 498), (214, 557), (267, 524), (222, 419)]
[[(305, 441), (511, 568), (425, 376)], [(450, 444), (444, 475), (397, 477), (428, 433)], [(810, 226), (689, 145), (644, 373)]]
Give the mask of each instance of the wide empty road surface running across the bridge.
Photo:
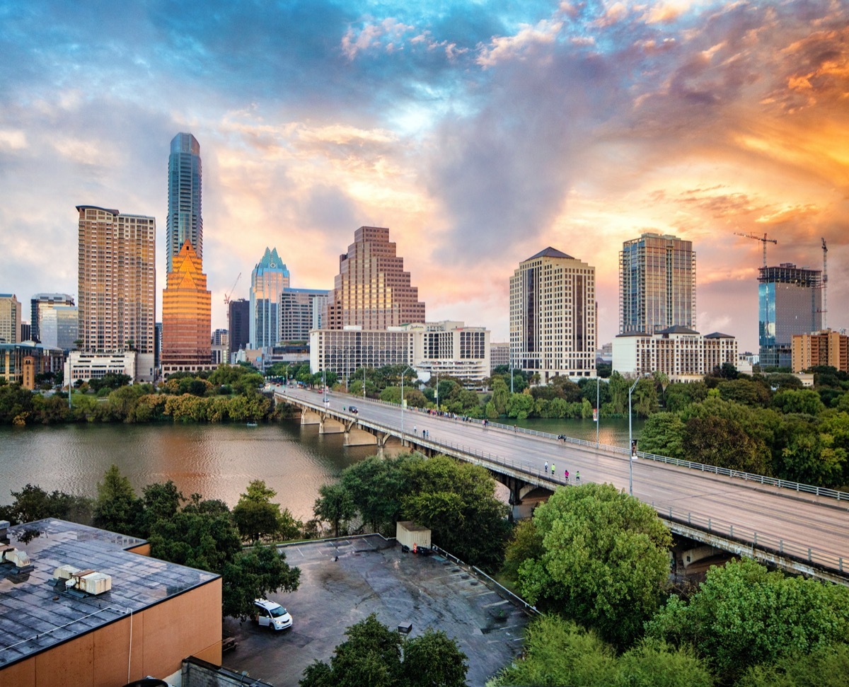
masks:
[[(310, 403), (322, 401), (313, 391), (290, 387), (287, 393)], [(335, 411), (353, 404), (363, 420), (400, 430), (401, 410), (396, 406), (337, 394), (330, 394), (328, 399), (329, 408)], [(537, 476), (547, 478), (552, 487), (563, 483), (563, 470), (568, 469), (573, 481), (580, 470), (584, 482), (610, 482), (617, 488), (628, 489), (628, 459), (621, 453), (494, 427), (485, 429), (478, 423), (410, 408), (404, 411), (403, 424), (409, 439), (419, 438), (421, 431), (427, 430), (434, 442), (453, 443), (491, 453), (493, 459), (519, 463)], [(549, 466), (554, 463), (556, 479), (545, 475), (546, 462)], [(689, 515), (694, 524), (704, 525), (710, 518), (711, 529), (717, 532), (729, 534), (733, 526), (734, 536), (745, 541), (753, 541), (756, 533), (759, 543), (773, 542), (777, 546), (780, 541), (785, 550), (794, 552), (811, 548), (814, 560), (822, 555), (837, 566), (837, 560), (842, 557), (845, 567), (849, 566), (849, 504), (642, 459), (633, 461), (633, 494), (660, 512), (668, 513), (672, 508), (673, 515), (683, 520)]]

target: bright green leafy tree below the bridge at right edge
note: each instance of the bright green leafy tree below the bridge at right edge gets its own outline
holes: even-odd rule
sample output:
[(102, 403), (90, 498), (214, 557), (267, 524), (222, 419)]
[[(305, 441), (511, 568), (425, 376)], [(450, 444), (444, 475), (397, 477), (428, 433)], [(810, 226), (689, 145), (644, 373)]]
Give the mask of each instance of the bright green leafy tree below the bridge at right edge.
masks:
[(747, 667), (845, 644), (849, 588), (737, 560), (712, 567), (689, 603), (671, 597), (646, 627), (692, 645), (730, 681)]

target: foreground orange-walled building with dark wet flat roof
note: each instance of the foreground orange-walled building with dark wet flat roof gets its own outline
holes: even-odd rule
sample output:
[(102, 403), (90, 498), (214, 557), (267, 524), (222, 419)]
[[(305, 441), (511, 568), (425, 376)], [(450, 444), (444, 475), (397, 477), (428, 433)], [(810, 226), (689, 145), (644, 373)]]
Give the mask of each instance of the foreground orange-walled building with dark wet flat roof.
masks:
[(0, 563), (0, 684), (112, 687), (171, 677), (186, 656), (221, 664), (221, 577), (67, 521), (12, 527), (6, 541), (18, 552)]

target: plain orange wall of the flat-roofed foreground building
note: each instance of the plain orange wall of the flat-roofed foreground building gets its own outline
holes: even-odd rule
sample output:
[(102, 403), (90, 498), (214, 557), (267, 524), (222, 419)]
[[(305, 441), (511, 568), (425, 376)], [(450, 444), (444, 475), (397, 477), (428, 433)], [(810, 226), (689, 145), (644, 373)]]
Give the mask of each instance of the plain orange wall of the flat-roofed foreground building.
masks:
[[(132, 652), (130, 645), (132, 622)], [(0, 670), (15, 687), (115, 687), (176, 673), (186, 656), (221, 665), (221, 578)]]

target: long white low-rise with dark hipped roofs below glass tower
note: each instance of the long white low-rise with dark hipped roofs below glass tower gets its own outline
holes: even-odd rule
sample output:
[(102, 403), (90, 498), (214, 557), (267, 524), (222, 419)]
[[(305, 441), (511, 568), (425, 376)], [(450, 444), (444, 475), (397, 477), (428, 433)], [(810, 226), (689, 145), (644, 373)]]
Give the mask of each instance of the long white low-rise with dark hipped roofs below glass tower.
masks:
[(613, 369), (621, 374), (662, 372), (670, 381), (694, 381), (724, 363), (737, 367), (737, 340), (719, 332), (700, 335), (676, 326), (656, 334), (621, 334), (613, 340)]

